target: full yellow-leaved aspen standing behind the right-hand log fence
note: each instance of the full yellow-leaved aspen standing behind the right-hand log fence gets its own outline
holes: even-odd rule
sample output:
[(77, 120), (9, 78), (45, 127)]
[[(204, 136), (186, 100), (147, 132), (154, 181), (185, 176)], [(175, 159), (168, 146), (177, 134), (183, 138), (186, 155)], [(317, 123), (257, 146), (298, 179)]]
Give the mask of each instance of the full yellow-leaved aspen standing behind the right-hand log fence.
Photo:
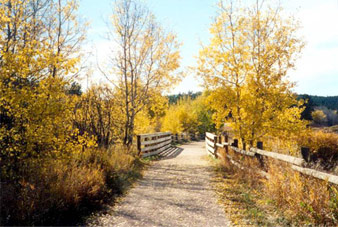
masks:
[(197, 69), (213, 90), (218, 126), (230, 123), (236, 136), (251, 145), (264, 135), (302, 130), (302, 102), (287, 77), (304, 46), (297, 21), (264, 1), (249, 7), (228, 3), (219, 2)]

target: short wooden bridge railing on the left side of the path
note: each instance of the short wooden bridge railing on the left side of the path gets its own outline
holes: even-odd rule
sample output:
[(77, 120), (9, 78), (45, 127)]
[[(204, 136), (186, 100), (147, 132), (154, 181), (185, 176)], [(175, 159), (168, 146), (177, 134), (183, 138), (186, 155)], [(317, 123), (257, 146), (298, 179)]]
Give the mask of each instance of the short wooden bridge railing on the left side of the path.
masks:
[(137, 149), (142, 157), (156, 155), (168, 149), (171, 146), (171, 142), (171, 132), (137, 135)]

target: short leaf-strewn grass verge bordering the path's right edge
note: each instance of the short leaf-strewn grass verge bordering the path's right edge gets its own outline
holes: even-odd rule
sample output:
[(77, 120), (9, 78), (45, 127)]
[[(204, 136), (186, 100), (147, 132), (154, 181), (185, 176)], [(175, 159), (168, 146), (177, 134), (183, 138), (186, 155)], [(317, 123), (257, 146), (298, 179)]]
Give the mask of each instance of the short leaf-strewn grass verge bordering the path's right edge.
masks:
[[(262, 184), (227, 161), (214, 162), (214, 188), (234, 226), (284, 226), (274, 207), (262, 197)], [(247, 176), (243, 178), (242, 176)], [(259, 176), (256, 176), (259, 178)], [(254, 185), (254, 186), (253, 186)]]

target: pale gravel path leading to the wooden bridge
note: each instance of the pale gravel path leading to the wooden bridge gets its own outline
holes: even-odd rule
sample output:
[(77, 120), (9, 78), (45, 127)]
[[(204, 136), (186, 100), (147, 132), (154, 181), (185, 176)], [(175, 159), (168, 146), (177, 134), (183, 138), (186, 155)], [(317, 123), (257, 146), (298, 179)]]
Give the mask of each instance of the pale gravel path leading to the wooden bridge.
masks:
[(230, 226), (211, 186), (204, 142), (171, 149), (89, 226)]

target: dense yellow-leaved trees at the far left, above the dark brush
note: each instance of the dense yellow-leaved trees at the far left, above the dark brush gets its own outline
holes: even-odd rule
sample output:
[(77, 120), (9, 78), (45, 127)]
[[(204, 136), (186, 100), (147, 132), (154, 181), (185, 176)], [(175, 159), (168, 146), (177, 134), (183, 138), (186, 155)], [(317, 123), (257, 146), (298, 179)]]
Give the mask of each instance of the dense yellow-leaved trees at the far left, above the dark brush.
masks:
[[(0, 0), (0, 161), (15, 171), (29, 159), (81, 152), (87, 142), (94, 145), (73, 128), (75, 103), (66, 94), (65, 77), (79, 59), (66, 43), (77, 42), (54, 44), (57, 37), (59, 44), (65, 40), (60, 31), (70, 20), (63, 18), (52, 29), (58, 20), (51, 17), (59, 9), (54, 2)], [(70, 15), (71, 2), (60, 14)]]

